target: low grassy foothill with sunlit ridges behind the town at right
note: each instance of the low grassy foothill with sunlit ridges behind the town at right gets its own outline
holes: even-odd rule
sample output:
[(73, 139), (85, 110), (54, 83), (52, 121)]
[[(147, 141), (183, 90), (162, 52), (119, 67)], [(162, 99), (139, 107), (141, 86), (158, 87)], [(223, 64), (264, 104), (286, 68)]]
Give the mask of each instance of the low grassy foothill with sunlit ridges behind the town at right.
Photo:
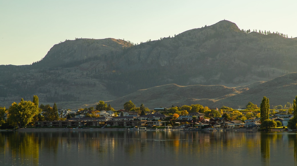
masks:
[[(249, 88), (250, 87), (250, 88)], [(222, 85), (189, 85), (176, 84), (162, 85), (123, 96), (107, 103), (115, 107), (131, 100), (136, 106), (141, 103), (153, 107), (171, 107), (201, 104), (211, 108), (222, 105), (238, 108), (252, 102), (260, 106), (263, 96), (269, 98), (271, 107), (293, 103), (297, 95), (297, 73), (290, 73), (267, 82), (250, 85), (245, 88), (230, 88)]]

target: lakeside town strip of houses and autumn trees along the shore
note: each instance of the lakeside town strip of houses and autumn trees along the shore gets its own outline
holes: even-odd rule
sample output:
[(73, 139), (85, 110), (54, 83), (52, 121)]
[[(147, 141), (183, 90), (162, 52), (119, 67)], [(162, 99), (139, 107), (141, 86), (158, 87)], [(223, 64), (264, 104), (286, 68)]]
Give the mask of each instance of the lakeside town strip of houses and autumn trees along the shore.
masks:
[[(31, 106), (30, 106), (31, 104)], [(249, 102), (246, 109), (229, 107), (208, 108), (200, 104), (191, 106), (157, 107), (153, 110), (141, 104), (136, 107), (132, 101), (124, 104), (124, 109), (114, 110), (104, 101), (99, 101), (96, 108), (89, 107), (78, 110), (57, 109), (48, 104), (38, 104), (38, 97), (33, 102), (13, 103), (9, 109), (1, 107), (1, 126), (17, 126), (17, 128), (126, 128), (126, 129), (187, 129), (187, 130), (230, 130), (230, 129), (271, 129), (287, 126), (294, 128), (296, 116), (296, 100), (287, 103), (285, 109), (277, 106), (269, 109), (269, 99), (264, 96), (260, 109)], [(28, 109), (23, 109), (25, 106)], [(35, 110), (35, 113), (34, 113)], [(4, 113), (3, 113), (4, 112)], [(21, 112), (21, 114), (20, 114)], [(294, 114), (293, 114), (294, 112)], [(26, 115), (28, 114), (28, 115)], [(22, 118), (23, 117), (23, 118)], [(31, 117), (31, 118), (30, 118)], [(262, 120), (262, 123), (261, 123)], [(6, 124), (6, 125), (2, 125)], [(295, 125), (296, 126), (296, 125)], [(140, 128), (141, 127), (141, 128)]]

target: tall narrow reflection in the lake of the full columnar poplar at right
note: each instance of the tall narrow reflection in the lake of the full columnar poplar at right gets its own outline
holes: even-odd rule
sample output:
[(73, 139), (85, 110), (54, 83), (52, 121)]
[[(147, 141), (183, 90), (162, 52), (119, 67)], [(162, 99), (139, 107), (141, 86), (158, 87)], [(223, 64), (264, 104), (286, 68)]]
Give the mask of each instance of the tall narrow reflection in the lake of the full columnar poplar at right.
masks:
[(261, 159), (266, 165), (269, 165), (270, 158), (270, 137), (269, 134), (261, 133)]

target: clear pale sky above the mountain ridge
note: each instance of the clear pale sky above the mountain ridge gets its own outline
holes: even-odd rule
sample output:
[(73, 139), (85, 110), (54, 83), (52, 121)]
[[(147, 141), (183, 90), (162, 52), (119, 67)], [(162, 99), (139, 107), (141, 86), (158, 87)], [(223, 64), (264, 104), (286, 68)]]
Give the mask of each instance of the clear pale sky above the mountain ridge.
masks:
[(224, 19), (294, 38), (296, 6), (296, 0), (0, 0), (0, 65), (29, 65), (75, 37), (140, 43)]

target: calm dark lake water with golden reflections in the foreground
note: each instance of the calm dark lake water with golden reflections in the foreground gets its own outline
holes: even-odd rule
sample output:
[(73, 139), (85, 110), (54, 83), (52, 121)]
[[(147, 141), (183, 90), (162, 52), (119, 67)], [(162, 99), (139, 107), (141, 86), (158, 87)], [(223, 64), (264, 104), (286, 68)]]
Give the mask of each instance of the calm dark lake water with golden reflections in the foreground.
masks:
[(297, 165), (297, 134), (0, 131), (0, 165)]

